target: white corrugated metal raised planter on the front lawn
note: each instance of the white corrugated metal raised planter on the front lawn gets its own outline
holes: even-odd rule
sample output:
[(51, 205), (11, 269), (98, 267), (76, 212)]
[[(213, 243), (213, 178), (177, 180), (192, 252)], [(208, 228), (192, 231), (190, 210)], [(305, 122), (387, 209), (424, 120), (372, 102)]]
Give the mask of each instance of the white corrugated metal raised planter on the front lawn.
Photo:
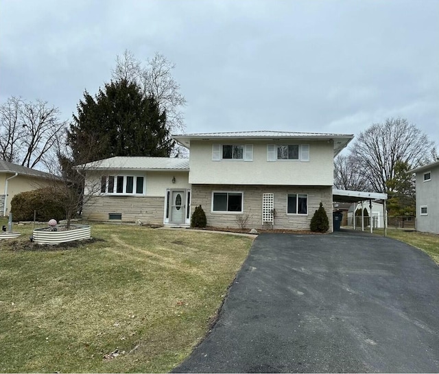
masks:
[(33, 232), (34, 242), (38, 244), (60, 244), (73, 242), (73, 240), (90, 239), (90, 226), (85, 224), (72, 224), (69, 230), (60, 230), (65, 226), (58, 225), (58, 231), (47, 229), (35, 229)]

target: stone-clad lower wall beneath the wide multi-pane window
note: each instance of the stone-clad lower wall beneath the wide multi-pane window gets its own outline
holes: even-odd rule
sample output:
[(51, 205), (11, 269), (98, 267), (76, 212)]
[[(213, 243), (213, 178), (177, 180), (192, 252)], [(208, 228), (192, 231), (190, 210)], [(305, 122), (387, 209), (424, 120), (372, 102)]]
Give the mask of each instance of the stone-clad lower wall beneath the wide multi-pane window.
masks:
[(86, 220), (106, 221), (108, 213), (121, 213), (122, 221), (141, 220), (144, 224), (163, 224), (164, 197), (96, 196), (82, 209)]

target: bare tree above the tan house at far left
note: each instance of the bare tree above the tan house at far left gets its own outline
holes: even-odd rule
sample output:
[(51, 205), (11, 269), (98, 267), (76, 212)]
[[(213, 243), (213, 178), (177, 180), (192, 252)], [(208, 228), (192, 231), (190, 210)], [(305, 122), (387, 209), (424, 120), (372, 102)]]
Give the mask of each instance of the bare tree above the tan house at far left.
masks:
[(47, 102), (10, 97), (0, 106), (1, 157), (34, 167), (49, 156), (65, 125), (66, 121), (60, 121), (60, 110)]

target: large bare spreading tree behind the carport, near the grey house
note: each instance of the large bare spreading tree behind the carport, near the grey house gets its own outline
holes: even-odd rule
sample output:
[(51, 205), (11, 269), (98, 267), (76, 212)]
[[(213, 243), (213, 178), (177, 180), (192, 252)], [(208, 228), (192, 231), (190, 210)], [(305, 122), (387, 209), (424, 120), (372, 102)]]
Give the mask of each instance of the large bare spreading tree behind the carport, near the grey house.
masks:
[(413, 169), (432, 161), (433, 154), (434, 142), (403, 118), (372, 124), (360, 133), (352, 150), (361, 172), (377, 192), (388, 191), (387, 181), (395, 177), (397, 162), (407, 163)]

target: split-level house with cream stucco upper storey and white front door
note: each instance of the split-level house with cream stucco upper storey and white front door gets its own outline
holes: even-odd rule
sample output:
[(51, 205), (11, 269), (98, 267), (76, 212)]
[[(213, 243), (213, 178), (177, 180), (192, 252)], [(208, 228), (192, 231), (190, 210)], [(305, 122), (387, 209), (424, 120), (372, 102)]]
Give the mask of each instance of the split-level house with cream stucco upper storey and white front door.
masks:
[(189, 226), (201, 205), (208, 226), (307, 230), (320, 202), (332, 222), (333, 159), (353, 135), (252, 131), (172, 138), (189, 149), (189, 159), (113, 157), (89, 164), (86, 193), (95, 196), (84, 218)]

